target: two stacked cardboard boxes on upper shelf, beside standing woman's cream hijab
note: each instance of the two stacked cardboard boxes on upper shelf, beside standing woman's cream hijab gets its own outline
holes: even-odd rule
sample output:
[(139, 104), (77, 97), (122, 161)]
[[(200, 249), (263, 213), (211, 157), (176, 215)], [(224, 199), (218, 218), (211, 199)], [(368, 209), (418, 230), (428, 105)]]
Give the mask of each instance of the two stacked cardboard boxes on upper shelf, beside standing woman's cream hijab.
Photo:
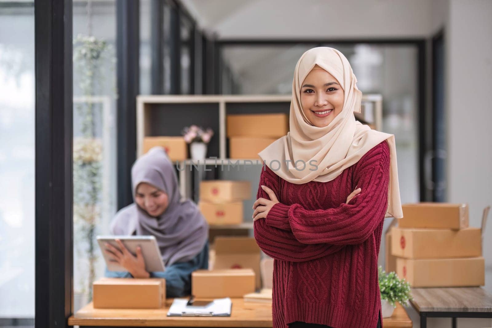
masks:
[(258, 159), (258, 152), (288, 131), (289, 117), (284, 113), (227, 115), (229, 158)]

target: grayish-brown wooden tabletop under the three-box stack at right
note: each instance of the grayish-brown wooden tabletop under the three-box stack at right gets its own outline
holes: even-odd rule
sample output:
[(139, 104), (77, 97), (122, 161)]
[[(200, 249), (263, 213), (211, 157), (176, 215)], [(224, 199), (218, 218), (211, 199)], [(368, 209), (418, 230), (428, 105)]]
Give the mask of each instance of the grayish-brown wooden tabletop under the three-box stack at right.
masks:
[(492, 312), (492, 295), (481, 287), (412, 288), (419, 312)]

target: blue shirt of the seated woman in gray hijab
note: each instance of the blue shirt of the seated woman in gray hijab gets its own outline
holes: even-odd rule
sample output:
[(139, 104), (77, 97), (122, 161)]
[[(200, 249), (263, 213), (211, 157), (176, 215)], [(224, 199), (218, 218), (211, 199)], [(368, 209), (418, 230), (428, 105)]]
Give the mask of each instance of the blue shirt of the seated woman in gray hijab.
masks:
[[(166, 279), (166, 298), (184, 297), (191, 295), (191, 272), (209, 268), (209, 242), (205, 243), (202, 251), (187, 262), (176, 262), (164, 272), (150, 272), (151, 278)], [(105, 277), (133, 278), (129, 272), (109, 271), (106, 268)]]

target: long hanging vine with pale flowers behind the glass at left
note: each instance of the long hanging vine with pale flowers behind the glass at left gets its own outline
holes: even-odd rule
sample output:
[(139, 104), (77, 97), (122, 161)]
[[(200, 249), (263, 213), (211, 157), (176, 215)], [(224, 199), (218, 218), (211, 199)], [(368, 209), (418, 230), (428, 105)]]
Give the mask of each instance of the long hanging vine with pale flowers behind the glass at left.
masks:
[[(83, 252), (88, 257), (89, 277), (83, 292), (92, 299), (92, 282), (95, 279), (96, 227), (101, 217), (102, 191), (102, 141), (97, 137), (96, 126), (102, 120), (97, 104), (91, 100), (100, 94), (105, 81), (104, 67), (114, 64), (112, 47), (94, 36), (77, 35), (74, 39), (73, 66), (77, 76), (75, 88), (87, 101), (75, 103), (77, 117), (81, 119), (80, 135), (74, 137), (73, 145), (73, 188), (75, 231), (79, 240), (87, 242)], [(74, 115), (75, 118), (75, 115)], [(80, 125), (79, 125), (80, 124)], [(74, 124), (76, 126), (76, 124)]]

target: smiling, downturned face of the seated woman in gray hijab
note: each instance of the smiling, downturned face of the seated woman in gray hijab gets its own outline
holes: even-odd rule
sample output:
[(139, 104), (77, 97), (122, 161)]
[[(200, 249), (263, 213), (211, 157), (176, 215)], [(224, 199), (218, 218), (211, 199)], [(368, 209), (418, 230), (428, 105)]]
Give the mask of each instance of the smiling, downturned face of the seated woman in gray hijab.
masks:
[(164, 213), (169, 205), (167, 194), (146, 182), (142, 182), (137, 186), (135, 202), (141, 209), (154, 217)]

